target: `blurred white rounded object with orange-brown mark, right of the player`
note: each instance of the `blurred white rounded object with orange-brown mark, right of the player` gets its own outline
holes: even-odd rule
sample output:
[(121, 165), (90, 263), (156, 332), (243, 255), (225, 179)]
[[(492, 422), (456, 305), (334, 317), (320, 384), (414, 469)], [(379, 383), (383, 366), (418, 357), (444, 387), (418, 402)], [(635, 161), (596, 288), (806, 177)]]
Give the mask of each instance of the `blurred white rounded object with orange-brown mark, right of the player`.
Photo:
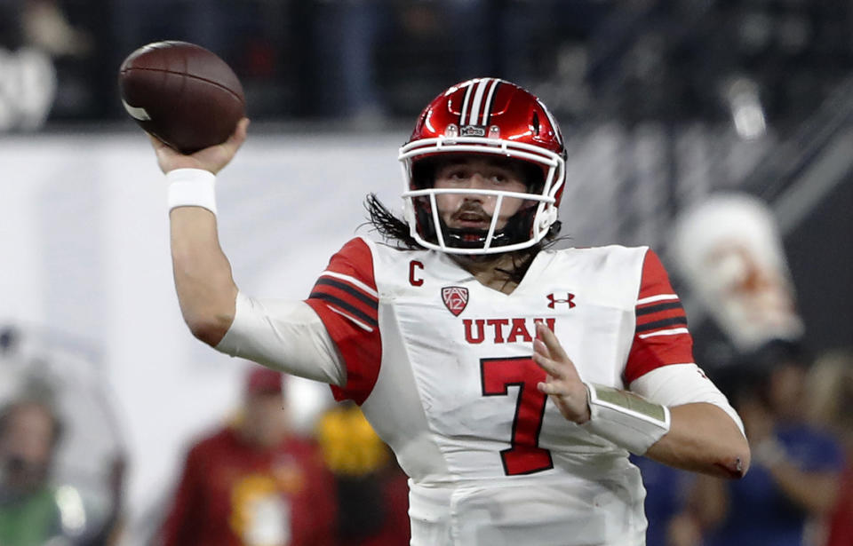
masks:
[(741, 352), (803, 333), (775, 218), (747, 194), (715, 194), (675, 224), (684, 279)]

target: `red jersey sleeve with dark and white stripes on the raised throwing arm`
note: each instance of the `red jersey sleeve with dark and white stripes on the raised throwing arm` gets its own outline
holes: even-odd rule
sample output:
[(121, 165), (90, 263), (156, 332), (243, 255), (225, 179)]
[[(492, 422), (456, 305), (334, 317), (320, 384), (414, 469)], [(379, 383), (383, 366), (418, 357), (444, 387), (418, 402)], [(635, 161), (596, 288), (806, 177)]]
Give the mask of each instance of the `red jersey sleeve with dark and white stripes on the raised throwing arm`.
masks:
[(347, 368), (347, 384), (331, 385), (335, 400), (362, 404), (376, 384), (382, 358), (379, 293), (365, 241), (353, 239), (331, 257), (306, 303), (323, 320)]

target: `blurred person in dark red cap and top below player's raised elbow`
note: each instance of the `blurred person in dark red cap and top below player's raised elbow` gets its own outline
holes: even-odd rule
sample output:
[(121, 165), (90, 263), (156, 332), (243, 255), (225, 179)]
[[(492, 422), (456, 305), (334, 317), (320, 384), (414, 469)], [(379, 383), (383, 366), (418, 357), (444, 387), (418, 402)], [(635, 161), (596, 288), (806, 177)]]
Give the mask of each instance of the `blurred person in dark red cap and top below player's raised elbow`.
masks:
[(315, 443), (289, 430), (282, 375), (252, 365), (243, 415), (187, 455), (163, 546), (323, 546), (336, 501)]

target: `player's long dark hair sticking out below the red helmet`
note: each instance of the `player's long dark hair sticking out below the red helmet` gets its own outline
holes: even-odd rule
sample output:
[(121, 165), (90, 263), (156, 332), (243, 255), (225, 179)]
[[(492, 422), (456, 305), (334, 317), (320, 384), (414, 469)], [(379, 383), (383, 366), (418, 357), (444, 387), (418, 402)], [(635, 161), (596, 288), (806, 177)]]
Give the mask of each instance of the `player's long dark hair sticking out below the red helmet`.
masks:
[[(377, 197), (376, 194), (367, 195), (364, 199), (364, 208), (367, 210), (369, 215), (368, 223), (373, 226), (373, 230), (379, 233), (383, 240), (388, 244), (391, 244), (395, 248), (401, 250), (425, 249), (423, 245), (419, 244), (419, 242), (415, 241), (414, 237), (411, 236), (409, 224), (388, 210), (385, 204), (379, 201), (379, 197)], [(513, 257), (512, 268), (498, 269), (500, 273), (506, 274), (506, 281), (516, 283), (521, 282), (524, 278), (524, 274), (527, 273), (528, 268), (530, 268), (533, 258), (536, 257), (539, 251), (546, 249), (554, 245), (555, 242), (563, 239), (563, 237), (558, 236), (560, 228), (561, 224), (558, 220), (551, 226), (551, 229), (548, 231), (548, 234), (543, 241), (539, 241), (526, 249), (509, 252), (508, 254)], [(488, 254), (483, 255), (482, 257), (477, 256), (469, 258), (493, 259), (490, 258), (490, 255)]]

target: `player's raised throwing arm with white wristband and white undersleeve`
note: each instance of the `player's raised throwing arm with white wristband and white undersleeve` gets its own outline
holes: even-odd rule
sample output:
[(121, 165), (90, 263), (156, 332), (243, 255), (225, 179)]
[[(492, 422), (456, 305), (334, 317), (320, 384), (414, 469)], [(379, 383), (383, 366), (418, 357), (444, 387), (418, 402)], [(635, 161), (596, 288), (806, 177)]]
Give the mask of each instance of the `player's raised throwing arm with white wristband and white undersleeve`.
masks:
[(335, 385), (346, 368), (320, 317), (305, 302), (239, 293), (219, 246), (213, 185), (246, 138), (243, 119), (227, 142), (192, 155), (151, 138), (169, 181), (171, 260), (180, 311), (193, 336), (220, 352)]

